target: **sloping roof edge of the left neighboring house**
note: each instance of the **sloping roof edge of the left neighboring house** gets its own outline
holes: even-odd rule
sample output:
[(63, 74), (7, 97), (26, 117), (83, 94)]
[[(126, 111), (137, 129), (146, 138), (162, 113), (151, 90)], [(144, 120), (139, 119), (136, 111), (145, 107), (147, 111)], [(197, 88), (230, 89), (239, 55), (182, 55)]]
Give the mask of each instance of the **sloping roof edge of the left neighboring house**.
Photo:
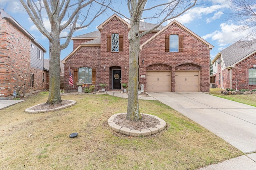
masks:
[(36, 41), (36, 39), (24, 28), (22, 25), (20, 25), (12, 16), (10, 16), (7, 12), (5, 12), (3, 9), (0, 8), (0, 13), (3, 18), (6, 18), (9, 20), (12, 24), (14, 24), (18, 29), (20, 29), (25, 35), (27, 35), (36, 45), (41, 47), (44, 50), (44, 53), (46, 53), (46, 49)]

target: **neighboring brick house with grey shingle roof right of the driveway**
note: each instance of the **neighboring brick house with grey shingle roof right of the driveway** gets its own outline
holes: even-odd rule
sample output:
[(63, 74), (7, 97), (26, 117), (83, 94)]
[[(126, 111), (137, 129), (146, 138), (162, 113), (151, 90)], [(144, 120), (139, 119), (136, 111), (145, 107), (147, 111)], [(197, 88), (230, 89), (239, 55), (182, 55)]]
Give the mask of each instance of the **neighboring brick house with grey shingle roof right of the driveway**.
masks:
[(237, 41), (212, 60), (215, 86), (222, 89), (256, 89), (256, 42)]

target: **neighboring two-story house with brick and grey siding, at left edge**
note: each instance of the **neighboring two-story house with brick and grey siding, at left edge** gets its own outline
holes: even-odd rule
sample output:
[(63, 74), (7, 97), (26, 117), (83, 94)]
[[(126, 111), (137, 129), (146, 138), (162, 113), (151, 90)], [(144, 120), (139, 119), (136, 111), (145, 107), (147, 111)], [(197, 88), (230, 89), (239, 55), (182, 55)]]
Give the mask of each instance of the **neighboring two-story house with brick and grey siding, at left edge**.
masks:
[(44, 53), (34, 37), (0, 8), (0, 99), (46, 88)]

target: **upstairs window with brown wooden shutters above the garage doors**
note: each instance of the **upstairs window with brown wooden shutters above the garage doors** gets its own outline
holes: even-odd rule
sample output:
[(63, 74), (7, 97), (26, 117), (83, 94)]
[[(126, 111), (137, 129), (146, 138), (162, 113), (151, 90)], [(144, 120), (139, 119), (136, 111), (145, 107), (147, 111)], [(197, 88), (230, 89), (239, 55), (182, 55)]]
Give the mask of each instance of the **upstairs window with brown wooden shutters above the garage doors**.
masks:
[(165, 52), (177, 53), (183, 52), (183, 35), (166, 35)]

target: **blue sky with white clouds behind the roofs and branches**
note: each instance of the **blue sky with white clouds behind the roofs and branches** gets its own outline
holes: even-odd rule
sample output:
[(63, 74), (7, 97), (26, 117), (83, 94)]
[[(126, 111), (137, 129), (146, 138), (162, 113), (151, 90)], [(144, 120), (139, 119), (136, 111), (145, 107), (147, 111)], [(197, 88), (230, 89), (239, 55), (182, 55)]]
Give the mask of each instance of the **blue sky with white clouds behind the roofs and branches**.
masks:
[[(168, 0), (148, 0), (149, 3), (164, 3)], [(32, 34), (36, 40), (46, 49), (47, 53), (44, 54), (45, 59), (49, 59), (49, 41), (40, 31), (36, 28), (34, 23), (30, 20), (27, 12), (23, 8), (19, 0), (0, 0), (0, 8), (4, 9), (14, 20), (18, 21), (22, 27), (24, 27), (30, 34)], [(118, 6), (119, 10), (127, 11), (127, 6), (124, 4)], [(234, 29), (238, 27), (236, 22), (228, 21), (227, 13), (230, 12), (230, 6), (228, 0), (198, 0), (195, 7), (184, 13), (182, 16), (176, 18), (185, 27), (208, 41), (214, 48), (210, 51), (210, 57), (214, 58), (216, 54), (222, 49), (225, 49), (229, 45), (243, 38), (246, 31), (236, 32)], [(90, 26), (74, 32), (73, 36), (82, 35), (96, 31), (97, 26), (107, 20), (114, 12), (108, 11), (108, 14), (102, 14)], [(122, 16), (120, 16), (122, 17)], [(122, 17), (123, 18), (123, 17)], [(152, 21), (145, 22), (154, 23)], [(44, 18), (45, 27), (49, 28), (50, 23), (47, 18)], [(168, 22), (163, 25), (167, 25)], [(65, 34), (66, 32), (63, 32)], [(73, 41), (71, 40), (68, 47), (61, 51), (60, 59), (64, 59), (73, 50)]]

